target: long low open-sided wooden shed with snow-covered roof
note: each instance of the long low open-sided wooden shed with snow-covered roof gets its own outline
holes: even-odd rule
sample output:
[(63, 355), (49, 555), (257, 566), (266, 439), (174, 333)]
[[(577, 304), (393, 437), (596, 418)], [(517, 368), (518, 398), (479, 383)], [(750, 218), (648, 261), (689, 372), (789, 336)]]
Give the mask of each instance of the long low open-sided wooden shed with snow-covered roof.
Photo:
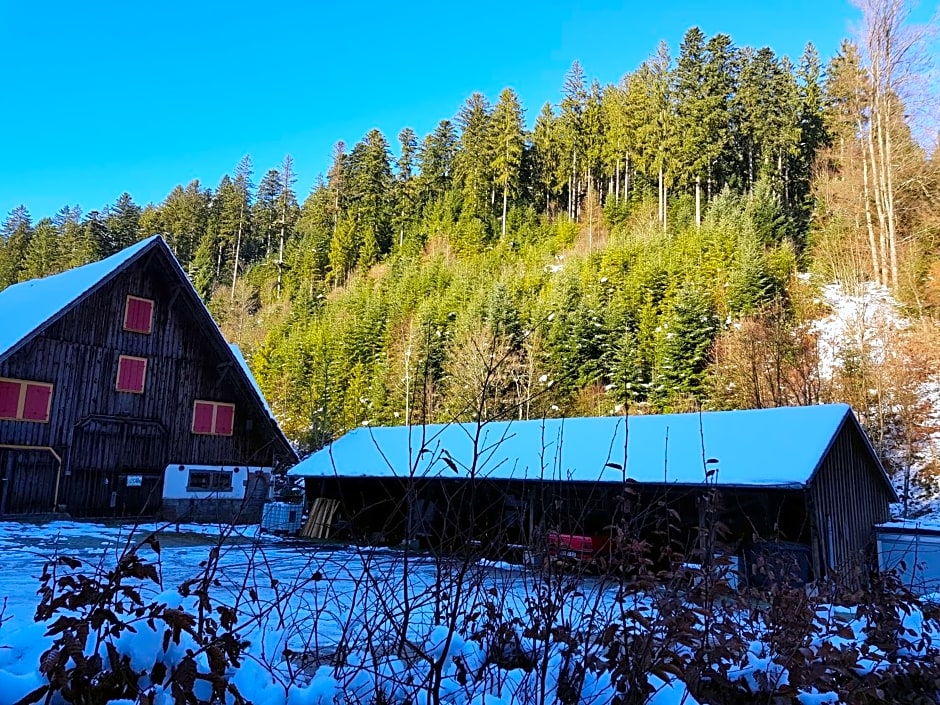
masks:
[(525, 544), (546, 528), (649, 525), (659, 511), (694, 541), (712, 511), (729, 552), (747, 560), (786, 546), (807, 579), (870, 565), (874, 527), (897, 501), (842, 404), (363, 427), (289, 474), (305, 479), (311, 503), (338, 501), (332, 531), (366, 539)]

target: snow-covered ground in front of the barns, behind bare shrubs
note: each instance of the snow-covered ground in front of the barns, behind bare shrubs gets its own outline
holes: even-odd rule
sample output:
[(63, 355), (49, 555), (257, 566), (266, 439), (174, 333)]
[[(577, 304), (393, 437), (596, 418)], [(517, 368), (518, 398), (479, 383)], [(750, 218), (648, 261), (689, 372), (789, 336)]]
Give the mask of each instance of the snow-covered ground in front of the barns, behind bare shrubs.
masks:
[[(701, 680), (703, 664), (716, 682), (745, 697), (769, 701), (768, 696), (785, 693), (789, 702), (804, 704), (855, 702), (846, 693), (856, 692), (862, 687), (856, 683), (867, 683), (866, 677), (891, 675), (906, 660), (938, 659), (933, 626), (907, 605), (888, 620), (897, 635), (897, 648), (890, 650), (872, 643), (870, 636), (883, 633), (885, 625), (870, 614), (819, 602), (778, 611), (776, 618), (786, 625), (793, 613), (809, 610), (810, 628), (794, 642), (798, 653), (790, 653), (781, 646), (781, 625), (769, 621), (773, 610), (756, 604), (740, 609), (737, 598), (725, 601), (719, 595), (693, 604), (678, 592), (629, 593), (620, 583), (597, 577), (546, 576), (391, 549), (315, 546), (253, 530), (132, 528), (0, 523), (0, 590), (6, 597), (0, 618), (0, 705), (13, 705), (29, 693), (39, 695), (26, 702), (46, 702), (37, 689), (52, 677), (50, 663), (58, 664), (57, 677), (78, 678), (96, 655), (102, 660), (95, 668), (123, 669), (131, 674), (132, 687), (123, 682), (123, 690), (103, 700), (56, 695), (51, 703), (207, 703), (222, 683), (234, 689), (218, 691), (218, 702), (254, 705), (693, 705), (698, 701), (683, 679), (698, 671)], [(78, 576), (100, 577), (116, 565), (133, 566), (127, 547), (158, 528), (159, 552), (149, 545), (138, 551), (154, 562), (156, 572), (130, 581), (140, 593), (139, 612), (115, 608), (117, 602), (129, 604), (126, 597), (96, 603), (109, 584), (104, 581), (84, 602), (60, 602), (41, 623), (33, 621), (40, 576), (51, 558), (81, 561), (80, 566), (46, 564), (60, 587), (73, 586), (74, 596), (83, 584)], [(183, 584), (186, 596), (178, 590)], [(56, 588), (46, 599), (62, 594)], [(104, 608), (119, 612), (111, 623), (118, 627), (94, 627)], [(184, 613), (194, 619), (172, 634)], [(85, 626), (62, 629), (57, 620), (70, 617)], [(50, 627), (58, 633), (46, 636)], [(81, 649), (76, 650), (74, 635), (86, 638)], [(58, 650), (48, 652), (56, 638)], [(238, 648), (232, 657), (218, 649), (213, 653), (211, 643)], [(183, 676), (187, 659), (201, 674), (195, 681)], [(855, 676), (846, 685), (826, 676), (832, 673)], [(86, 678), (95, 687), (106, 680), (97, 672)], [(187, 687), (196, 700), (180, 699)], [(236, 699), (235, 690), (245, 701)]]

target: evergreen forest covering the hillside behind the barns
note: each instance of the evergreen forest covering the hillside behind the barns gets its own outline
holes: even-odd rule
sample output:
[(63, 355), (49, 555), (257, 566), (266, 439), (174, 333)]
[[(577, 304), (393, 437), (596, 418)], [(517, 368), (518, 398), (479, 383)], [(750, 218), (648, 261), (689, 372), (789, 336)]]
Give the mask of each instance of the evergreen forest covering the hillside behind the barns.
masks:
[[(363, 424), (828, 401), (927, 433), (940, 151), (899, 7), (826, 59), (692, 28), (616, 84), (575, 62), (558, 103), (474, 93), (430, 134), (337, 143), (312, 188), (246, 156), (160, 203), (21, 206), (0, 288), (163, 235), (305, 452)], [(890, 292), (906, 357), (822, 371), (832, 282)]]

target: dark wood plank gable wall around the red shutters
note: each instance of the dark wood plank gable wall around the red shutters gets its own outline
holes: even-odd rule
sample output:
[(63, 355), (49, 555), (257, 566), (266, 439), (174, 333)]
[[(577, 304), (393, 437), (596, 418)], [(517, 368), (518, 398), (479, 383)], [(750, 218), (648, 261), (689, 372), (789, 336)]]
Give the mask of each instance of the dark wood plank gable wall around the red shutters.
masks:
[[(69, 511), (114, 509), (114, 490), (105, 488), (115, 472), (150, 477), (170, 464), (272, 465), (292, 456), (238, 363), (206, 330), (214, 324), (201, 302), (167, 275), (176, 267), (169, 257), (160, 243), (0, 362), (0, 377), (54, 385), (49, 422), (0, 421), (0, 446), (55, 449), (63, 457), (59, 503)], [(128, 295), (154, 301), (152, 333), (124, 330)], [(146, 358), (142, 394), (116, 391), (121, 355)], [(234, 404), (234, 433), (193, 434), (196, 399)], [(51, 509), (51, 495), (43, 503)]]

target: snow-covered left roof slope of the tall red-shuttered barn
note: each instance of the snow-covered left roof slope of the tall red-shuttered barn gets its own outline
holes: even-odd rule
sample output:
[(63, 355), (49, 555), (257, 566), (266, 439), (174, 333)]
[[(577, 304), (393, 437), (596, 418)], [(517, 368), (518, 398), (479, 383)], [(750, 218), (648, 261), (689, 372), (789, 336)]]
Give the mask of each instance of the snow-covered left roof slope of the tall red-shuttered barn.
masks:
[(159, 235), (141, 240), (98, 262), (61, 274), (31, 279), (0, 291), (0, 357), (147, 249)]

